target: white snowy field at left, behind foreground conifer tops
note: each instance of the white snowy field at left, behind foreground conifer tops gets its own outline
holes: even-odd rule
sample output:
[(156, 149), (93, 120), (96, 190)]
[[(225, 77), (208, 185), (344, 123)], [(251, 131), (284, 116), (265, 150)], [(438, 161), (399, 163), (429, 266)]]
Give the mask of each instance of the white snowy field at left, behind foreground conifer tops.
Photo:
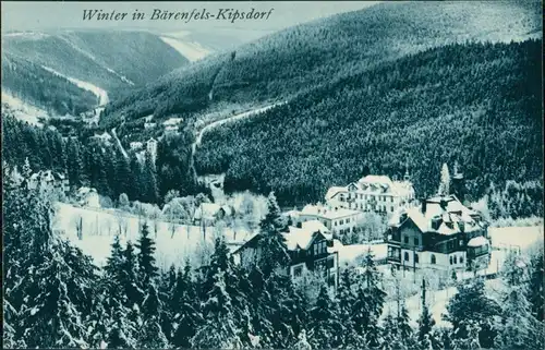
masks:
[[(113, 237), (118, 232), (120, 241), (136, 242), (140, 237), (138, 217), (114, 209), (99, 209), (74, 207), (70, 204), (58, 203), (53, 229), (63, 231), (65, 237), (85, 254), (90, 255), (98, 266), (106, 263), (110, 255)], [(77, 238), (76, 227), (81, 220), (82, 240)], [(145, 219), (142, 219), (142, 224)], [(150, 236), (157, 244), (156, 258), (159, 267), (167, 268), (171, 264), (182, 265), (186, 258), (197, 258), (196, 253), (203, 245), (213, 244), (217, 230), (214, 227), (202, 229), (198, 226), (172, 225), (165, 221), (147, 220)], [(155, 230), (157, 229), (157, 233)], [(173, 229), (173, 234), (172, 234)], [(126, 233), (125, 233), (126, 232)], [(225, 229), (228, 244), (243, 242), (250, 232)]]

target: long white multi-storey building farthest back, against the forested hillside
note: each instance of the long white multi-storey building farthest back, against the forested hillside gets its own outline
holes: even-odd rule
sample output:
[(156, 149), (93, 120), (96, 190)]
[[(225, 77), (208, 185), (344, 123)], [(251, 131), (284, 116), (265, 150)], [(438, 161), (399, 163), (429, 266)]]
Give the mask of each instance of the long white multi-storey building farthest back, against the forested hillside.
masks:
[(405, 174), (403, 181), (386, 176), (366, 176), (347, 186), (332, 186), (326, 202), (342, 208), (392, 215), (397, 209), (412, 205), (414, 189)]

